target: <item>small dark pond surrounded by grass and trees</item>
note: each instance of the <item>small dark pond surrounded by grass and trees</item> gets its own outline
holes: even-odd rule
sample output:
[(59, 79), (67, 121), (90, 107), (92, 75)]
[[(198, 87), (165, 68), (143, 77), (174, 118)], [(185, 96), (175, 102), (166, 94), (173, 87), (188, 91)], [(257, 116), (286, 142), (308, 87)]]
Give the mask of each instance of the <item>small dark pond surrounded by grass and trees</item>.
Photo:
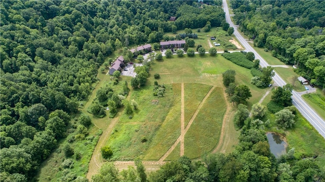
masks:
[(267, 133), (268, 141), (270, 144), (271, 153), (275, 157), (279, 157), (282, 154), (285, 154), (285, 148), (287, 147), (287, 143), (282, 140), (282, 136), (277, 133)]

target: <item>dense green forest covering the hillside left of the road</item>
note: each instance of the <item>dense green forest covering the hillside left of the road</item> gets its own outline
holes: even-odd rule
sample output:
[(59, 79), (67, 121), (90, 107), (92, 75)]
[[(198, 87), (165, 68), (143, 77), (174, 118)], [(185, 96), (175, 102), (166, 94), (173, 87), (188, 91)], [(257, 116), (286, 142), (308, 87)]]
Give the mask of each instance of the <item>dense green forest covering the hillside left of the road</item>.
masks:
[[(99, 66), (114, 51), (159, 42), (172, 29), (224, 22), (220, 6), (199, 6), (193, 1), (1, 1), (1, 180), (26, 181), (36, 174), (67, 136), (79, 101), (88, 98)], [(169, 21), (171, 16), (176, 21)]]

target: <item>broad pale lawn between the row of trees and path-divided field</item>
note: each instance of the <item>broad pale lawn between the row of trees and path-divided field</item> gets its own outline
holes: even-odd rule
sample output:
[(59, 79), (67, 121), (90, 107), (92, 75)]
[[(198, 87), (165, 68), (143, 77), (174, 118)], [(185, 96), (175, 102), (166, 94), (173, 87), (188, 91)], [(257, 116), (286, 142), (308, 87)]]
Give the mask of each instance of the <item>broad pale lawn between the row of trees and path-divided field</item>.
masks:
[[(259, 89), (250, 83), (252, 75), (250, 70), (226, 60), (221, 55), (211, 57), (205, 55), (200, 57), (187, 57), (184, 55), (178, 58), (164, 58), (163, 61), (152, 62), (151, 75), (160, 74), (159, 83), (202, 83), (223, 87), (222, 72), (227, 69), (236, 70), (236, 85), (247, 85), (250, 88), (252, 98), (248, 100), (248, 108), (258, 102), (267, 89)], [(154, 79), (149, 78), (149, 83), (153, 84)]]

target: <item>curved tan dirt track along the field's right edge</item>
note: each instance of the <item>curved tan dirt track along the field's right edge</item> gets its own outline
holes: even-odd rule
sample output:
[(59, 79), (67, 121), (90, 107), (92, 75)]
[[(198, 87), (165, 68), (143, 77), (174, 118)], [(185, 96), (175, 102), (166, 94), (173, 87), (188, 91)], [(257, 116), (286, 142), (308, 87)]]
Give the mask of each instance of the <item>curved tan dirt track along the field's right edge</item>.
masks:
[[(227, 145), (228, 142), (231, 137), (229, 135), (225, 136), (225, 132), (224, 132), (224, 129), (225, 129), (225, 126), (228, 126), (228, 123), (229, 122), (232, 122), (233, 120), (231, 120), (231, 117), (233, 115), (233, 112), (232, 112), (232, 105), (230, 102), (228, 102), (227, 100), (227, 95), (226, 93), (223, 91), (223, 97), (224, 97), (224, 100), (227, 104), (227, 110), (225, 111), (224, 113), (224, 116), (223, 116), (223, 121), (222, 121), (222, 126), (221, 126), (221, 132), (220, 132), (220, 138), (219, 138), (219, 142), (218, 142), (218, 145), (217, 147), (212, 151), (212, 153), (216, 153), (216, 152), (224, 152), (224, 151), (220, 151), (220, 148), (223, 147), (225, 148), (223, 145)], [(226, 137), (226, 138), (224, 138)]]

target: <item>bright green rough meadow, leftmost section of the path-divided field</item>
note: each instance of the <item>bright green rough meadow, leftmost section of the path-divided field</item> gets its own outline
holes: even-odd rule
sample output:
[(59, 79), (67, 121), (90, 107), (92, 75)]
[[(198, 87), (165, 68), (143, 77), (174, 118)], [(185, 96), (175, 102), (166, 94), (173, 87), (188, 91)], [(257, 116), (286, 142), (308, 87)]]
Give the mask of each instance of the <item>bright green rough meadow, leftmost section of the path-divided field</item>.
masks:
[(165, 97), (155, 97), (152, 93), (152, 86), (132, 91), (130, 99), (138, 103), (139, 109), (134, 112), (132, 119), (121, 111), (123, 114), (119, 123), (107, 141), (113, 150), (110, 160), (132, 161), (136, 157), (142, 158), (173, 107), (175, 97), (180, 99), (180, 93), (174, 95), (171, 85), (166, 85)]

